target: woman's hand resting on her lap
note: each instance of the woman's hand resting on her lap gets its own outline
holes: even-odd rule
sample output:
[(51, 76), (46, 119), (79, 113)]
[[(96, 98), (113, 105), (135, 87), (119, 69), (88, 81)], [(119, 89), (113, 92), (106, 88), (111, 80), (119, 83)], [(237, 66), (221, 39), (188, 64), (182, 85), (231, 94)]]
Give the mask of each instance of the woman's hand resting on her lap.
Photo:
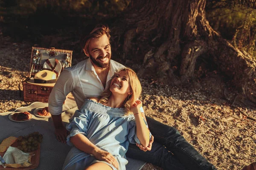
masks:
[(99, 161), (106, 161), (109, 164), (112, 164), (116, 169), (119, 169), (119, 164), (116, 158), (109, 152), (101, 149), (93, 151), (92, 154)]

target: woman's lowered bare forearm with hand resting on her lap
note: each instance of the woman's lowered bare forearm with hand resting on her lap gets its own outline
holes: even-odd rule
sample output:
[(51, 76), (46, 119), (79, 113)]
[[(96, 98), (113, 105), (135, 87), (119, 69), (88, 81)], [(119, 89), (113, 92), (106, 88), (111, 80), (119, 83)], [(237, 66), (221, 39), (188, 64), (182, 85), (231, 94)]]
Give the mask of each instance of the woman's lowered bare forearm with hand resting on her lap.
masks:
[(113, 166), (117, 169), (119, 168), (116, 158), (111, 153), (101, 150), (99, 147), (95, 146), (83, 134), (79, 133), (75, 136), (70, 137), (70, 142), (84, 153), (93, 155), (97, 160), (106, 161), (109, 164), (113, 164)]

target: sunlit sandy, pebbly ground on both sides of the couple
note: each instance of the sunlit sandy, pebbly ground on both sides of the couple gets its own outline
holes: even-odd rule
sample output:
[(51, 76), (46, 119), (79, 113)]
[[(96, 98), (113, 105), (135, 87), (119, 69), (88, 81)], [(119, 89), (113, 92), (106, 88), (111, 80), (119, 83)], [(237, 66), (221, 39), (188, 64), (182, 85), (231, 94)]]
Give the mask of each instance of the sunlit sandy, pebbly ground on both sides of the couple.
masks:
[[(29, 75), (33, 45), (0, 34), (0, 112), (30, 104), (20, 96), (23, 91), (19, 91), (19, 85)], [(73, 56), (73, 64), (78, 61)], [(141, 82), (145, 113), (177, 128), (215, 167), (241, 170), (256, 161), (256, 107), (218, 74), (209, 73), (200, 83), (187, 87), (172, 87), (152, 79)], [(160, 169), (151, 164), (143, 168)]]

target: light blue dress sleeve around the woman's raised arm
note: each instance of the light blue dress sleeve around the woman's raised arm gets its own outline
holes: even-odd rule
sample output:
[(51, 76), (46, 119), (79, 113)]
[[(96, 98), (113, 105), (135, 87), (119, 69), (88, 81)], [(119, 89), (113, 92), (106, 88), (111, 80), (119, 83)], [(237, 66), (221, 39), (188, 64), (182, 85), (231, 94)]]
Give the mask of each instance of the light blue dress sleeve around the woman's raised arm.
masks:
[[(148, 127), (148, 124), (147, 122), (145, 121), (145, 119), (143, 118), (146, 126)], [(137, 143), (137, 144), (140, 144), (140, 140), (138, 139), (138, 136), (137, 136), (137, 131), (136, 131), (136, 121), (135, 119), (132, 119), (129, 124), (128, 124), (128, 128), (129, 128), (129, 133), (128, 133), (128, 140), (130, 143)], [(149, 139), (151, 139), (151, 133), (149, 132)]]

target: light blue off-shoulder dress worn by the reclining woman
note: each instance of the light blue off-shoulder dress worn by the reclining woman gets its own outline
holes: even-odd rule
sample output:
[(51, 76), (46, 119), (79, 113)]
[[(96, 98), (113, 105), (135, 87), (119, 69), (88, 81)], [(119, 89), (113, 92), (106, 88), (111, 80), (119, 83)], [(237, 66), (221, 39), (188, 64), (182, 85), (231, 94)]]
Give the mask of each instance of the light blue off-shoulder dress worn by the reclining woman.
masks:
[[(147, 125), (146, 122), (145, 124)], [(67, 130), (70, 131), (67, 144), (73, 146), (70, 137), (81, 133), (97, 147), (111, 153), (119, 163), (119, 170), (125, 170), (125, 164), (128, 163), (125, 153), (129, 142), (140, 144), (133, 114), (125, 116), (124, 108), (111, 108), (89, 99), (85, 100), (81, 109), (70, 119)], [(67, 154), (63, 170), (84, 170), (85, 167), (96, 162), (104, 162), (116, 170), (112, 164), (99, 161), (74, 146)]]

